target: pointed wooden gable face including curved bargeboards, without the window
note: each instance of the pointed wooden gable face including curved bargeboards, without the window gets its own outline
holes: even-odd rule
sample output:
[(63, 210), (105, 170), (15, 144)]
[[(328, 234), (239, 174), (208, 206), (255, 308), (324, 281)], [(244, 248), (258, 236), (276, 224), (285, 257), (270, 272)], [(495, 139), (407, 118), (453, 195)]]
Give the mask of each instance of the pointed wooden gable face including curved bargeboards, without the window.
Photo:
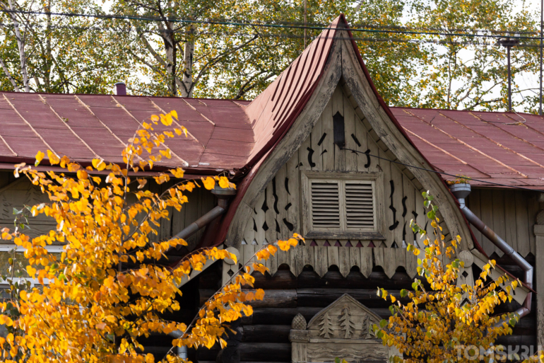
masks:
[[(227, 246), (240, 249), (244, 243), (261, 245), (288, 238), (292, 232), (302, 233), (300, 174), (302, 170), (317, 168), (343, 173), (383, 173), (385, 200), (378, 202), (385, 204), (382, 209), (386, 214), (383, 231), (386, 236), (384, 244), (378, 241), (373, 243), (374, 247), (396, 245), (394, 247), (400, 248), (404, 239), (411, 241), (410, 236), (403, 236), (403, 230), (406, 234), (411, 232), (406, 226), (411, 218), (408, 209), (417, 211), (417, 220), (422, 219), (425, 224), (425, 210), (417, 204), (421, 202), (420, 192), (430, 190), (440, 207), (442, 227), (451, 235), (459, 234), (462, 249), (471, 250), (471, 234), (456, 207), (456, 200), (439, 175), (410, 167), (432, 168), (380, 105), (350, 37), (345, 35), (348, 35), (345, 31), (336, 31), (324, 75), (316, 90), (285, 137), (262, 161), (247, 187), (230, 224)], [(339, 120), (340, 116), (345, 120), (343, 143), (336, 140), (337, 130), (333, 127), (336, 124), (325, 122), (325, 117)], [(344, 147), (360, 150), (362, 154), (346, 151)], [(365, 157), (366, 151), (383, 159)], [(382, 160), (391, 164), (389, 170), (382, 168)], [(298, 182), (294, 183), (295, 180)], [(407, 188), (414, 188), (419, 198), (414, 198), (411, 192), (405, 195), (406, 198), (398, 197)], [(285, 199), (290, 203), (282, 203)], [(400, 225), (401, 215), (403, 225)], [(329, 241), (327, 245), (317, 241), (318, 246), (338, 246), (335, 243)], [(338, 247), (345, 246), (347, 241), (339, 243)], [(361, 241), (361, 245), (366, 247), (365, 242)], [(351, 246), (355, 247), (353, 243)]]

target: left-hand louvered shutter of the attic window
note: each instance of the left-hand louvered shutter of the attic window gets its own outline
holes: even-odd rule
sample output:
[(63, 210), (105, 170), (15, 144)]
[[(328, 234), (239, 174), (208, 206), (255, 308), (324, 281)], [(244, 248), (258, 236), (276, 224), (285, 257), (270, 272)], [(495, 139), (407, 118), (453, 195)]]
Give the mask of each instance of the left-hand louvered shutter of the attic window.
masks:
[(340, 183), (336, 180), (312, 180), (311, 188), (313, 229), (340, 229)]

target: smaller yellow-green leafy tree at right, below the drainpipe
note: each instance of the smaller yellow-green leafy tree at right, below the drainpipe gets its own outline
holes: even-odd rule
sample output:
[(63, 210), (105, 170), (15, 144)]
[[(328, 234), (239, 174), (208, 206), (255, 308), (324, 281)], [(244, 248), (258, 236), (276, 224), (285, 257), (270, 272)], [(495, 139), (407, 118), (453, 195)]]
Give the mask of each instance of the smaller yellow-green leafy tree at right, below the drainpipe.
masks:
[[(457, 257), (461, 237), (446, 242), (436, 215), (438, 207), (432, 204), (434, 197), (429, 192), (422, 195), (425, 207), (430, 210), (427, 217), (434, 232), (430, 236), (425, 228), (413, 220), (410, 222), (415, 236), (425, 245), (418, 248), (408, 244), (408, 251), (414, 255), (425, 255), (418, 258), (420, 278), (414, 280), (412, 290), (402, 289), (398, 296), (378, 289), (378, 296), (383, 299), (389, 296), (391, 316), (373, 325), (372, 334), (403, 355), (394, 357), (394, 362), (471, 362), (480, 352), (483, 354), (479, 359), (491, 362), (502, 349), (495, 345), (495, 340), (500, 335), (512, 334), (519, 320), (516, 313), (495, 314), (495, 309), (512, 301), (510, 292), (520, 283), (508, 275), (492, 280), (495, 261), (490, 260), (474, 286), (458, 284), (464, 266)], [(473, 347), (476, 352), (466, 351)]]

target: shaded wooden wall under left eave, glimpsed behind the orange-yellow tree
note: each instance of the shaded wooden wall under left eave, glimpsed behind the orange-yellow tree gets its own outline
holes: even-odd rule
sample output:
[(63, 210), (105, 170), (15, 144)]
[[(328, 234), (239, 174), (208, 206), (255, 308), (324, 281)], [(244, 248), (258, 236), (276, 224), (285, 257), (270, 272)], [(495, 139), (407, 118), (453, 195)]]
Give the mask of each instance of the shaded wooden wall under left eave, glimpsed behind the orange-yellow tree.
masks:
[[(162, 192), (168, 186), (157, 185), (153, 180), (150, 180), (146, 188), (150, 188), (154, 192)], [(175, 209), (170, 211), (170, 219), (162, 219), (158, 234), (150, 236), (153, 240), (170, 238), (215, 207), (215, 197), (204, 188), (196, 188), (193, 192), (187, 192), (187, 196), (189, 203), (184, 204), (179, 212)], [(16, 179), (12, 172), (0, 172), (0, 228), (6, 226), (13, 229), (13, 219), (15, 218), (13, 208), (21, 209), (24, 205), (32, 206), (42, 202), (49, 202), (49, 198), (42, 194), (39, 188), (32, 185), (27, 178)], [(29, 222), (30, 229), (25, 229), (24, 232), (31, 237), (45, 234), (57, 225), (53, 219), (44, 217), (42, 214), (39, 217), (30, 218)], [(203, 229), (188, 238), (187, 242), (189, 244), (196, 243), (202, 234)]]

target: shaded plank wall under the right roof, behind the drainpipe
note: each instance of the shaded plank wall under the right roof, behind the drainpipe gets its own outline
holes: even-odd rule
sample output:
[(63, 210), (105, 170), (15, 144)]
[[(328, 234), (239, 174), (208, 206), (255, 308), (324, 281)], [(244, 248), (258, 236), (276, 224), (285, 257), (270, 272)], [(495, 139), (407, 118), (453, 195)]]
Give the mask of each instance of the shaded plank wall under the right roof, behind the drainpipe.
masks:
[[(537, 192), (513, 189), (473, 188), (467, 199), (468, 208), (524, 257), (536, 253), (533, 228), (541, 204)], [(487, 255), (502, 256), (489, 239), (472, 230)]]

